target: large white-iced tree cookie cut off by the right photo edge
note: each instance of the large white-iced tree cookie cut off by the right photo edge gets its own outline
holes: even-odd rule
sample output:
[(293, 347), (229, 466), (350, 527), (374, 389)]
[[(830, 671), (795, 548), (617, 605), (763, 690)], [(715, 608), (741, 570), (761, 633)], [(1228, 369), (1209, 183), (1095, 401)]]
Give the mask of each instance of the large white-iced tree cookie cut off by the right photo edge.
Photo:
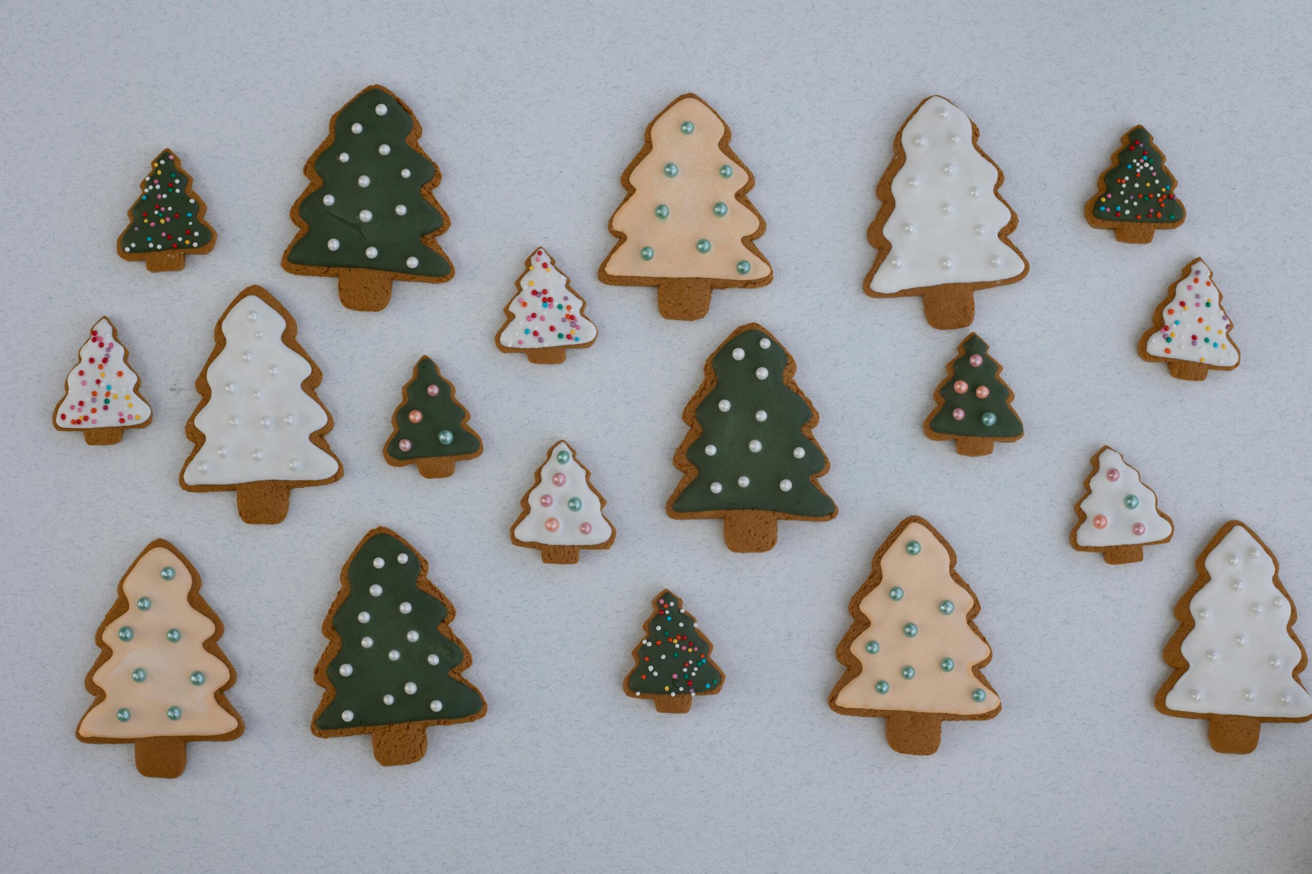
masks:
[(1299, 680), (1308, 656), (1294, 634), (1298, 613), (1279, 562), (1252, 528), (1221, 525), (1198, 557), (1198, 578), (1176, 618), (1158, 710), (1207, 719), (1216, 752), (1253, 752), (1263, 722), (1312, 719), (1312, 696)]

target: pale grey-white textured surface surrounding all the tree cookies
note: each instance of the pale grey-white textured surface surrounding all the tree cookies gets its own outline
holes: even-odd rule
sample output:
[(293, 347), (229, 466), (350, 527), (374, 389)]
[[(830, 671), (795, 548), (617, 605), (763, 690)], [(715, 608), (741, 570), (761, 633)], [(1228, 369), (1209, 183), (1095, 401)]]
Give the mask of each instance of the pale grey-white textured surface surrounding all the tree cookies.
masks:
[[(558, 7), (552, 9), (551, 7)], [(1312, 726), (1269, 726), (1249, 756), (1152, 706), (1194, 557), (1229, 518), (1279, 556), (1312, 616), (1307, 305), (1312, 138), (1308, 5), (1174, 3), (8, 3), (0, 8), (0, 320), (7, 392), (0, 584), (10, 870), (1305, 871)], [(399, 283), (380, 314), (279, 269), (287, 207), (328, 118), (383, 83), (424, 124), (451, 216), (445, 286)], [(695, 90), (757, 177), (760, 291), (663, 321), (655, 294), (604, 287), (606, 220), (651, 117)], [(962, 106), (1002, 166), (1029, 278), (977, 296), (975, 328), (1026, 436), (963, 459), (920, 423), (962, 333), (916, 300), (871, 300), (875, 181), (930, 93)], [(1149, 246), (1081, 208), (1120, 134), (1144, 123), (1189, 220)], [(219, 232), (184, 273), (114, 256), (136, 183), (177, 149)], [(533, 367), (492, 342), (529, 249), (544, 245), (597, 345)], [(1194, 256), (1216, 271), (1244, 363), (1168, 377), (1135, 345)], [(277, 527), (234, 495), (188, 494), (182, 425), (214, 321), (249, 283), (291, 309), (324, 371), (346, 465)], [(115, 447), (56, 434), (50, 410), (87, 330), (114, 318), (155, 422)], [(702, 362), (758, 320), (820, 410), (840, 507), (783, 523), (762, 556), (715, 522), (674, 522), (670, 455)], [(421, 480), (380, 453), (421, 354), (472, 413), (484, 455)], [(551, 440), (593, 470), (610, 552), (548, 567), (508, 527)], [(1176, 519), (1141, 565), (1073, 552), (1102, 443)], [(983, 601), (1002, 697), (929, 759), (832, 713), (848, 599), (903, 516), (954, 544)], [(310, 734), (319, 625), (375, 524), (429, 560), (474, 654), (482, 722), (432, 729), (428, 757), (374, 764), (365, 738)], [(195, 743), (182, 778), (139, 777), (130, 747), (84, 746), (92, 634), (154, 537), (199, 569), (227, 625), (247, 732)], [(648, 600), (699, 617), (724, 693), (657, 715), (619, 683)], [(1312, 622), (1299, 629), (1312, 639)]]

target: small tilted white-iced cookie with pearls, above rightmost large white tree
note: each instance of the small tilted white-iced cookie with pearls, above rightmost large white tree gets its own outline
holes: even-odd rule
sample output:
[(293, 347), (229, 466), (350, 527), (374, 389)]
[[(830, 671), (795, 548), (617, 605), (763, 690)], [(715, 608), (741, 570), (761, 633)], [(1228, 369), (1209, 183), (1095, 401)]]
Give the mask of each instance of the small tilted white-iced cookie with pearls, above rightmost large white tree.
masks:
[(1109, 565), (1143, 561), (1144, 546), (1170, 541), (1170, 516), (1157, 510), (1157, 494), (1120, 453), (1105, 446), (1090, 459), (1093, 470), (1084, 481), (1080, 518), (1071, 529), (1071, 545), (1102, 553)]

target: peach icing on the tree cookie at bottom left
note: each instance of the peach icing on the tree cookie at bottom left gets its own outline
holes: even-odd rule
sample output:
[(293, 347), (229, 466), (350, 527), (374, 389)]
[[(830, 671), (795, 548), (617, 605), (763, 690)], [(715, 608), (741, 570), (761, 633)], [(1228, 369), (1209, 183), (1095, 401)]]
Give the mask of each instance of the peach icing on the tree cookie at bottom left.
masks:
[[(173, 579), (160, 571), (172, 567)], [(127, 612), (105, 626), (101, 641), (112, 655), (96, 668), (92, 681), (105, 692), (105, 700), (92, 708), (77, 726), (83, 738), (159, 738), (210, 736), (227, 734), (237, 727), (236, 718), (219, 706), (214, 693), (231, 676), (228, 667), (210, 655), (203, 643), (214, 634), (214, 622), (188, 603), (192, 574), (186, 563), (164, 546), (156, 546), (129, 571), (123, 579)], [(150, 599), (150, 608), (138, 601)], [(119, 630), (133, 629), (133, 638), (123, 641)], [(171, 629), (181, 632), (171, 642)], [(133, 679), (143, 668), (146, 679)], [(199, 671), (205, 681), (192, 683)], [(182, 715), (168, 718), (169, 708), (181, 708)], [(126, 708), (130, 717), (122, 722), (115, 715)]]

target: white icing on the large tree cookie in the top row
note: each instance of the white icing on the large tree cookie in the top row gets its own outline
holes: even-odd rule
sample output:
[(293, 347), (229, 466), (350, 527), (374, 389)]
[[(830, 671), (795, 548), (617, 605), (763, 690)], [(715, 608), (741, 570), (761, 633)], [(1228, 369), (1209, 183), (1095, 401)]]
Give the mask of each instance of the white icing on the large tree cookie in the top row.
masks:
[(893, 176), (893, 210), (883, 225), (891, 244), (870, 291), (994, 283), (1025, 271), (1002, 229), (1014, 218), (996, 193), (998, 170), (975, 145), (971, 119), (930, 97), (901, 131), (905, 161)]

